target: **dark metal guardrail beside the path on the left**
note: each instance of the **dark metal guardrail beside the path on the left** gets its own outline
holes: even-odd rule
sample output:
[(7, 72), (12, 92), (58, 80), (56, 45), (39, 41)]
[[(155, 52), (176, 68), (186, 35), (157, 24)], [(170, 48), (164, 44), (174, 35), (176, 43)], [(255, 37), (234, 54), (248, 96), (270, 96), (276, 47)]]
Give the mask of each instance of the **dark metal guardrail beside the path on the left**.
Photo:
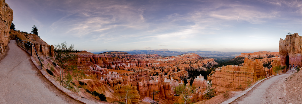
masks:
[(24, 50), (26, 50), (27, 53), (30, 54), (31, 56), (33, 56), (32, 47), (34, 47), (34, 50), (35, 50), (35, 52), (36, 52), (36, 55), (38, 56), (38, 59), (39, 59), (39, 61), (40, 61), (40, 69), (42, 70), (42, 62), (41, 62), (41, 60), (40, 60), (40, 57), (39, 57), (39, 55), (38, 55), (38, 53), (37, 53), (37, 50), (36, 50), (34, 44), (31, 43), (31, 42), (29, 42), (29, 41), (20, 40), (18, 37), (16, 37), (15, 43), (16, 43), (19, 47), (21, 47), (21, 48), (23, 48)]

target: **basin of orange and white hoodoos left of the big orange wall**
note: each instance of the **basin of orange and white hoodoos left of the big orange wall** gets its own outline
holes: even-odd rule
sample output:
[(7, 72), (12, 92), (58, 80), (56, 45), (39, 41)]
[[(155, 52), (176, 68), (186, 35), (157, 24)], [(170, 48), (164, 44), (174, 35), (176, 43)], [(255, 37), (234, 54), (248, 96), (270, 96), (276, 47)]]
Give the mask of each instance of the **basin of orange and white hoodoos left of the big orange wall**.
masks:
[[(127, 52), (92, 54), (82, 51), (76, 55), (79, 69), (86, 70), (85, 73), (88, 75), (95, 75), (101, 83), (118, 90), (116, 92), (125, 90), (123, 86), (132, 86), (127, 88), (137, 90), (132, 93), (136, 95), (131, 99), (132, 103), (139, 100), (150, 102), (150, 99), (153, 99), (151, 93), (154, 91), (159, 91), (154, 99), (160, 103), (177, 102), (178, 97), (174, 96), (173, 88), (184, 84), (182, 78), (188, 78), (187, 70), (206, 71), (208, 67), (217, 65), (214, 59), (204, 59), (197, 54), (162, 57), (158, 54), (131, 55)], [(191, 80), (194, 80), (194, 86), (200, 87), (199, 91), (205, 91), (207, 84), (204, 76), (197, 76), (197, 79)], [(197, 92), (194, 97), (202, 100), (202, 93)]]

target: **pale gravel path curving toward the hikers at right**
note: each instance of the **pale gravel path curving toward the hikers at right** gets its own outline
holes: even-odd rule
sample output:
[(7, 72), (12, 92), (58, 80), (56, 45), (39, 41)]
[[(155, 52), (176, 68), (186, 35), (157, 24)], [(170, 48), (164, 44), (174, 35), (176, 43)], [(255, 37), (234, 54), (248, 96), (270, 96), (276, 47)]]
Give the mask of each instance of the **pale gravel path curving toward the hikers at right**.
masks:
[[(292, 70), (288, 70), (290, 72)], [(285, 77), (292, 73), (285, 73), (262, 81), (252, 90), (236, 99), (232, 104), (282, 104), (284, 103)]]

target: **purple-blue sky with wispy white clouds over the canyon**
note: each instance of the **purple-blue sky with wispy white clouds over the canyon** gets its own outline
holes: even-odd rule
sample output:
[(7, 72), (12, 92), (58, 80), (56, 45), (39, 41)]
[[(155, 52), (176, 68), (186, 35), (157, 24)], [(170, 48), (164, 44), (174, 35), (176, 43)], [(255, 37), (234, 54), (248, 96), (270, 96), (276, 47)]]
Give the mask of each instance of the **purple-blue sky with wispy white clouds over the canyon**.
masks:
[(76, 50), (279, 50), (302, 35), (302, 0), (6, 0), (16, 30)]

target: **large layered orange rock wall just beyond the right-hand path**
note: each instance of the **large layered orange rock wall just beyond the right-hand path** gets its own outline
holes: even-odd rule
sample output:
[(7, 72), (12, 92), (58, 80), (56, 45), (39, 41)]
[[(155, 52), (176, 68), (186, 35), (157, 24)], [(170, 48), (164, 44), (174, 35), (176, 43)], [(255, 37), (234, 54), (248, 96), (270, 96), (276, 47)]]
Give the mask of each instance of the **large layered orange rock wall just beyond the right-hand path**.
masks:
[(243, 66), (227, 65), (215, 71), (211, 80), (217, 92), (245, 89), (260, 76), (265, 76), (262, 61), (258, 61), (258, 59), (245, 58)]

